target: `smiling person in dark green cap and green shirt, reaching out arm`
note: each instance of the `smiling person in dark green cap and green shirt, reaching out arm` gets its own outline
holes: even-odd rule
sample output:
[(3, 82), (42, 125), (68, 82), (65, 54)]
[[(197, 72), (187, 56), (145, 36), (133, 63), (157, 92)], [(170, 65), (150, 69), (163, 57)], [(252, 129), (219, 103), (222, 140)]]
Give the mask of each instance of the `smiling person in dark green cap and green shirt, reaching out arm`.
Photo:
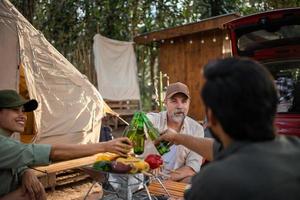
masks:
[(97, 144), (22, 144), (10, 136), (22, 133), (25, 112), (38, 107), (36, 100), (25, 100), (14, 90), (0, 90), (0, 200), (46, 199), (45, 190), (27, 166), (45, 165), (51, 161), (70, 160), (100, 152), (126, 156), (131, 148), (128, 138)]

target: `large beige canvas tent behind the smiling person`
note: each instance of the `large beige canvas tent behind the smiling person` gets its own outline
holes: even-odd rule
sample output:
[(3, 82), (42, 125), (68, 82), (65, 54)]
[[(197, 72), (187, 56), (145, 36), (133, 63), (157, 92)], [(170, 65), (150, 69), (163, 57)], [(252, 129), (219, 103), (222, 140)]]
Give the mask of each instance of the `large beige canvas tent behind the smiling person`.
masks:
[(0, 56), (0, 89), (39, 102), (26, 129), (32, 142), (98, 141), (107, 108), (101, 95), (7, 0), (0, 0)]

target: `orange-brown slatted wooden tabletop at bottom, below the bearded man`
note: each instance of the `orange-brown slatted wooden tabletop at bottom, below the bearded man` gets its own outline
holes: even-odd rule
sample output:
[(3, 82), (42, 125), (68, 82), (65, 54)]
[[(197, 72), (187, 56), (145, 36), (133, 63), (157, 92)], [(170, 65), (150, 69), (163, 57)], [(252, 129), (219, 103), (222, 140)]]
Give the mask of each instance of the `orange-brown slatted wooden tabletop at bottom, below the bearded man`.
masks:
[[(162, 181), (162, 183), (173, 198), (183, 198), (184, 191), (189, 185), (187, 183), (175, 182), (170, 180)], [(162, 186), (156, 181), (150, 183), (148, 188), (151, 194), (167, 195)]]

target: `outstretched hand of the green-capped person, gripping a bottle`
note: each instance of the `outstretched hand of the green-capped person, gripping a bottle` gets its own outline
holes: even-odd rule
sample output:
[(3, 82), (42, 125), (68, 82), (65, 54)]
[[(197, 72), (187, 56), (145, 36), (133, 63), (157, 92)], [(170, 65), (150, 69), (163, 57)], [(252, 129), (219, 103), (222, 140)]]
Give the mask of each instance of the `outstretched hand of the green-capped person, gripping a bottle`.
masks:
[(132, 143), (127, 137), (116, 138), (106, 142), (106, 151), (117, 153), (127, 157), (127, 153), (132, 148)]

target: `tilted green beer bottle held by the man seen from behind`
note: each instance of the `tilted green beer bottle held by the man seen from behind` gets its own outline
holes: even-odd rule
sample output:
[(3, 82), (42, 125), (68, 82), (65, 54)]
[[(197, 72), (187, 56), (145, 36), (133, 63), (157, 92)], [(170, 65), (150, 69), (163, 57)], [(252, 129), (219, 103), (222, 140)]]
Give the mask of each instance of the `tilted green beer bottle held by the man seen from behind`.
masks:
[[(143, 117), (144, 123), (147, 128), (147, 133), (148, 133), (148, 136), (150, 137), (150, 139), (152, 141), (154, 141), (157, 138), (159, 138), (159, 136), (160, 136), (159, 131), (153, 126), (153, 124), (151, 123), (149, 118), (146, 116), (146, 114), (141, 113), (141, 115)], [(161, 141), (155, 145), (155, 147), (160, 155), (164, 155), (165, 153), (169, 152), (170, 151), (169, 146), (170, 146), (170, 144), (167, 141)]]

